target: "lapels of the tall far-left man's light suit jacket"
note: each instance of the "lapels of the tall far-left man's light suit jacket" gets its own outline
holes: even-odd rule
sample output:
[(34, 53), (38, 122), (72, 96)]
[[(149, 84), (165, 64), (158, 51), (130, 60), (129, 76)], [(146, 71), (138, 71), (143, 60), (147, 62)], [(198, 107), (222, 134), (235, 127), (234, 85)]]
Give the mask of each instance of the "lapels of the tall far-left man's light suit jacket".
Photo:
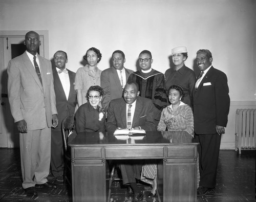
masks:
[[(41, 71), (41, 78), (42, 78), (42, 83), (44, 83), (44, 77), (42, 76), (42, 74), (44, 74), (44, 70), (43, 70), (43, 68), (42, 68), (42, 65), (43, 64), (41, 64), (41, 61), (40, 61), (40, 58), (38, 57), (38, 59), (39, 59), (39, 65), (40, 65), (40, 71)], [(26, 68), (28, 69), (28, 72), (31, 74), (31, 76), (35, 79), (35, 82), (37, 83), (37, 85), (40, 87), (40, 89), (41, 89), (41, 91), (43, 92), (43, 88), (42, 88), (42, 84), (41, 84), (41, 82), (40, 82), (40, 80), (39, 80), (39, 78), (38, 78), (38, 76), (37, 76), (37, 74), (36, 74), (36, 71), (35, 71), (35, 68), (34, 68), (34, 66), (33, 66), (33, 64), (31, 63), (31, 61), (30, 61), (30, 59), (29, 59), (29, 57), (28, 57), (28, 55), (27, 55), (27, 53), (25, 52), (24, 54), (23, 54), (23, 61), (24, 61), (24, 65), (26, 66)]]

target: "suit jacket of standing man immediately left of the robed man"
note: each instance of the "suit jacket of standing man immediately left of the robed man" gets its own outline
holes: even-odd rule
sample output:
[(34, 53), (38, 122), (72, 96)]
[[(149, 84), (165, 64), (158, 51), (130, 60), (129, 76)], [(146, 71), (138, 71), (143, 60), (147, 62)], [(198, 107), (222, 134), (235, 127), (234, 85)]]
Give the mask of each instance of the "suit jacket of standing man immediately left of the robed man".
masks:
[[(126, 82), (130, 74), (134, 71), (124, 68)], [(123, 95), (122, 86), (114, 67), (108, 68), (101, 72), (100, 86), (103, 88), (104, 94), (102, 96), (101, 104), (105, 111), (108, 109), (110, 101), (116, 98), (121, 98)]]

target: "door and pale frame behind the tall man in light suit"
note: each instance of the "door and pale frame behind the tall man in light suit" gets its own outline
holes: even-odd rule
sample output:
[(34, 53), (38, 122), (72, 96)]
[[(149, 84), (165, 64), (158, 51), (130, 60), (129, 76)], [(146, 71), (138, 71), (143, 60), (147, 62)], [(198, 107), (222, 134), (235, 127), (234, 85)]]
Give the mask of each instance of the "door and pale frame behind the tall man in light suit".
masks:
[[(0, 147), (19, 147), (19, 132), (11, 115), (8, 101), (7, 67), (11, 59), (23, 54), (26, 50), (23, 43), (24, 38), (25, 34), (23, 36), (0, 35)], [(38, 49), (38, 54), (44, 57), (44, 36), (40, 35), (40, 40), (41, 46)]]

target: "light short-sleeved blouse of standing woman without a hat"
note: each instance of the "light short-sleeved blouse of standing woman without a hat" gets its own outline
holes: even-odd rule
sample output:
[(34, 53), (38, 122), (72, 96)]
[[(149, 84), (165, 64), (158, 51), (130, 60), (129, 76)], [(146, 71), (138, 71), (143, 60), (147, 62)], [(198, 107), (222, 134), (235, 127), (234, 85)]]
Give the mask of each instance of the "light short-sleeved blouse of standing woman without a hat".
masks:
[(75, 76), (75, 90), (81, 89), (82, 90), (82, 104), (87, 103), (87, 91), (90, 86), (92, 85), (99, 85), (100, 86), (100, 74), (101, 70), (99, 70), (96, 66), (95, 69), (95, 76), (92, 75), (91, 71), (89, 70), (89, 65), (85, 65), (83, 68), (79, 68), (76, 72)]

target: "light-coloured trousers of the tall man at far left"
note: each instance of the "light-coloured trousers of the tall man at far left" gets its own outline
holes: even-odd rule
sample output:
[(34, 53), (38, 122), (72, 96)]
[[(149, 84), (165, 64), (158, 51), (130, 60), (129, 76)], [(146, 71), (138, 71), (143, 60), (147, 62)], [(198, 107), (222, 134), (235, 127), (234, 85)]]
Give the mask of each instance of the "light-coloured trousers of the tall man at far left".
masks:
[(19, 133), (19, 143), (23, 188), (46, 183), (51, 159), (51, 128)]

